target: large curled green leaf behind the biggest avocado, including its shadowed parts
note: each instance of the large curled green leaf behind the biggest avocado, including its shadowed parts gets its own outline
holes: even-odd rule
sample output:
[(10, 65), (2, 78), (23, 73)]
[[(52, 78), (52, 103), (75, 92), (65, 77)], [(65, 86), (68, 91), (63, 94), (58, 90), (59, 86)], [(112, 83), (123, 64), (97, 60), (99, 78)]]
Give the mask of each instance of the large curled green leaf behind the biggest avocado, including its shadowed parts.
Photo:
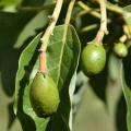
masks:
[(39, 40), (40, 34), (31, 41), (20, 57), (15, 80), (14, 110), (24, 131), (67, 131), (71, 129), (72, 123), (71, 99), (75, 87), (80, 41), (74, 28), (69, 25), (57, 26), (50, 37), (47, 48), (47, 67), (58, 85), (60, 105), (52, 117), (43, 119), (33, 111), (28, 96), (29, 84), (38, 70)]

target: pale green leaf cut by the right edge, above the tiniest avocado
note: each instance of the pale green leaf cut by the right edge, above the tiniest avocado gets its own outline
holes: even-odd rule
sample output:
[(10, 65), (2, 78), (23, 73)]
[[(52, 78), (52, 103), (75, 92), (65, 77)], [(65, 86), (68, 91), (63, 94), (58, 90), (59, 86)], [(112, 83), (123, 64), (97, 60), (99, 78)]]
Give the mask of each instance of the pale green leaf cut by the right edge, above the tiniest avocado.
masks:
[(126, 23), (131, 25), (131, 4), (123, 8), (123, 17)]

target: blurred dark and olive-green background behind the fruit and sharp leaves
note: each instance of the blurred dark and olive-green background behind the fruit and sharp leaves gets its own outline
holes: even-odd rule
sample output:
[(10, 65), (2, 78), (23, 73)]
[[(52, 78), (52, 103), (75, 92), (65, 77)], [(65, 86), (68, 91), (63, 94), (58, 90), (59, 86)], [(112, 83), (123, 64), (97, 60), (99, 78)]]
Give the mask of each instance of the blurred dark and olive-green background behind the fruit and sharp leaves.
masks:
[[(111, 2), (116, 3), (116, 1)], [(22, 131), (22, 127), (13, 112), (19, 57), (31, 39), (47, 26), (47, 15), (52, 10), (50, 8), (40, 12), (26, 11), (21, 7), (33, 8), (51, 2), (52, 0), (0, 1), (0, 131)], [(123, 5), (121, 1), (120, 4)], [(82, 47), (84, 47), (86, 41), (94, 37), (96, 31), (81, 33), (80, 28), (92, 22), (99, 23), (99, 21), (86, 15), (82, 20), (80, 17), (74, 20), (79, 10), (75, 8), (72, 23), (76, 27)], [(62, 11), (58, 24), (63, 23), (64, 14), (66, 12)], [(116, 15), (112, 17), (115, 19)], [(115, 19), (115, 23), (116, 21)], [(109, 28), (114, 32), (110, 33), (111, 40), (106, 39), (107, 44), (117, 39), (121, 34), (119, 25), (109, 25)], [(73, 99), (73, 131), (127, 131), (127, 107), (122, 95), (119, 70), (120, 60), (114, 55), (108, 57), (105, 71), (91, 80), (79, 68)]]

